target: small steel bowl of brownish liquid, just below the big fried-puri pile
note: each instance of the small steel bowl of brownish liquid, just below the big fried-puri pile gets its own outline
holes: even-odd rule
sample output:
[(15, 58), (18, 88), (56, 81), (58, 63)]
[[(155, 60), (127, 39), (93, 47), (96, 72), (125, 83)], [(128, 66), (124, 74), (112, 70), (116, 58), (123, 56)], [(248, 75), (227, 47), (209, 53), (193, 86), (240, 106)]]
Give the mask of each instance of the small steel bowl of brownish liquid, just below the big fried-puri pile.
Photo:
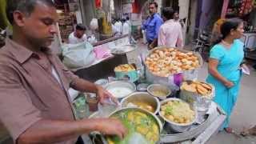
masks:
[[(154, 94), (154, 91), (163, 91), (166, 95), (158, 96)], [(166, 99), (170, 94), (171, 90), (168, 86), (161, 85), (161, 84), (152, 84), (147, 87), (147, 92), (149, 92), (152, 96), (159, 98), (159, 99)]]

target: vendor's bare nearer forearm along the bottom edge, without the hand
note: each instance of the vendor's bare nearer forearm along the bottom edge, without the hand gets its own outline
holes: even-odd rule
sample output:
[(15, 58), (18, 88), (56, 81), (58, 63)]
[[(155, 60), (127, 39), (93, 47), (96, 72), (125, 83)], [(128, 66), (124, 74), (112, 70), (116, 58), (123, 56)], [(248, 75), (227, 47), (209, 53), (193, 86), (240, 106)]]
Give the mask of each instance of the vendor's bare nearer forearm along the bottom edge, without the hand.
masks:
[(99, 130), (101, 119), (80, 121), (40, 120), (30, 126), (17, 140), (18, 144), (41, 144), (63, 142), (81, 134)]

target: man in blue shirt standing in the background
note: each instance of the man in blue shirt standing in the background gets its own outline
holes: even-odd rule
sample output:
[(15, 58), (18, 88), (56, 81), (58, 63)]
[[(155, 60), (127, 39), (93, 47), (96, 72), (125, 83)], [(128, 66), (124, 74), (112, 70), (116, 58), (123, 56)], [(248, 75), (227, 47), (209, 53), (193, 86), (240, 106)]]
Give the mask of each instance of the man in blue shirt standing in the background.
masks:
[(150, 2), (150, 17), (142, 24), (142, 30), (146, 30), (146, 41), (149, 44), (149, 49), (153, 49), (158, 43), (158, 30), (162, 25), (162, 18), (158, 11), (158, 3)]

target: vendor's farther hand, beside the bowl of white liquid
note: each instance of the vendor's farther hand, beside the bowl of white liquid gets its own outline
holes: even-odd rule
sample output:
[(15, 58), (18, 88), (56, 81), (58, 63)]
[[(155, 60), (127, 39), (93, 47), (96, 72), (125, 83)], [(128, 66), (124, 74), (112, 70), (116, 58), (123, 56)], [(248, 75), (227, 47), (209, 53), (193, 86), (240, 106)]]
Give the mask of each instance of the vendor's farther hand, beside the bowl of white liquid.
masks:
[(98, 95), (98, 100), (101, 104), (104, 104), (104, 100), (108, 98), (110, 98), (112, 102), (118, 104), (118, 99), (114, 98), (112, 94), (104, 90), (102, 86), (97, 86), (97, 95)]

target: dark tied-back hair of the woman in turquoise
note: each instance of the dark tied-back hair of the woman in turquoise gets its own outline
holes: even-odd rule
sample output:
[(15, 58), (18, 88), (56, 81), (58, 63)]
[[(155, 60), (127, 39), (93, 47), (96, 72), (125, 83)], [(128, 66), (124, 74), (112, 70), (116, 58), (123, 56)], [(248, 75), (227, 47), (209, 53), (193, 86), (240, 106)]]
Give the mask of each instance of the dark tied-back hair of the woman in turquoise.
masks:
[(231, 30), (238, 29), (238, 26), (242, 23), (242, 19), (239, 18), (230, 18), (222, 23), (222, 26), (220, 27), (221, 30), (221, 36), (218, 38), (216, 42), (214, 42), (213, 45), (218, 44), (222, 41), (222, 39), (226, 38), (231, 32)]

